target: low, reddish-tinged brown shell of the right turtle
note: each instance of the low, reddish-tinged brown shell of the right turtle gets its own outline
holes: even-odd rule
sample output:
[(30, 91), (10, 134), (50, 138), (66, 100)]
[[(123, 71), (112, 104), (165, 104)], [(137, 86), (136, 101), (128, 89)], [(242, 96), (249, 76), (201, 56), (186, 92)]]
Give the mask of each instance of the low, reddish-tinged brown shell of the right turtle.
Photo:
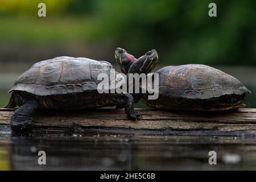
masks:
[(207, 100), (250, 93), (237, 78), (207, 65), (169, 66), (155, 73), (159, 73), (159, 94), (163, 96)]

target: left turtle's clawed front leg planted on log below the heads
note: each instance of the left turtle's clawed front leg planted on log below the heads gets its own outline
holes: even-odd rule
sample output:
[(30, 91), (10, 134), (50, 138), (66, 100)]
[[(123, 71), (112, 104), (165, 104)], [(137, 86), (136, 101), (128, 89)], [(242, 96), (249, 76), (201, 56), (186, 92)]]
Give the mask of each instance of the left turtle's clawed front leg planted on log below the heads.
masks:
[(129, 118), (133, 120), (141, 119), (142, 115), (138, 111), (134, 110), (133, 104), (133, 96), (129, 93), (121, 93), (121, 94), (113, 94), (110, 95), (113, 100), (117, 103), (117, 105), (125, 106), (125, 113)]

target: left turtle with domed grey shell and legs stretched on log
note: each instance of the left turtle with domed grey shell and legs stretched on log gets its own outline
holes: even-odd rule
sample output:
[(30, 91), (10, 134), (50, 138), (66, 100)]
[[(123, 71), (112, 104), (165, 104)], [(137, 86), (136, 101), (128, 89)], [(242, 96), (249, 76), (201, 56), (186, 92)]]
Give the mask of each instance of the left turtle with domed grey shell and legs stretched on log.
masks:
[[(115, 56), (130, 55), (119, 48)], [(155, 57), (154, 53), (151, 54)], [(128, 59), (128, 58), (127, 58)], [(150, 61), (146, 56), (133, 63), (133, 72), (142, 72), (141, 65)], [(97, 77), (114, 69), (108, 61), (97, 61), (85, 57), (60, 56), (39, 61), (22, 73), (9, 90), (11, 97), (6, 108), (18, 106), (11, 117), (11, 129), (26, 131), (32, 125), (32, 117), (37, 109), (93, 109), (97, 107), (123, 105), (130, 119), (141, 119), (134, 110), (133, 96), (129, 93), (100, 93)], [(115, 73), (117, 74), (117, 73)]]

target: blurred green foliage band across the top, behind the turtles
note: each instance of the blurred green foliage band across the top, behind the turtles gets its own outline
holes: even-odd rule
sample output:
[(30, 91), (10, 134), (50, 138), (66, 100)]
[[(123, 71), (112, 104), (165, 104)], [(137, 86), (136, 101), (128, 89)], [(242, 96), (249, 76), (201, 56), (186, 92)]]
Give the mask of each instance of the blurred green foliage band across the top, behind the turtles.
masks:
[[(39, 2), (46, 18), (36, 16)], [(217, 4), (215, 18), (208, 16), (210, 2)], [(0, 38), (111, 42), (135, 55), (155, 48), (164, 65), (256, 65), (255, 7), (254, 0), (2, 0)]]

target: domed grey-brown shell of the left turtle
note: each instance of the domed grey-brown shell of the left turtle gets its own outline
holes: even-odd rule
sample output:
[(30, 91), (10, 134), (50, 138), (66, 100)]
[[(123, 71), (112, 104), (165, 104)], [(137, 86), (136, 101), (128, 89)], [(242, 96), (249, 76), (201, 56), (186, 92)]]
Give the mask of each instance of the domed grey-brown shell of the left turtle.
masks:
[[(49, 96), (96, 90), (100, 73), (108, 74), (112, 64), (84, 57), (55, 57), (40, 61), (19, 76), (9, 90), (25, 91), (36, 96)], [(114, 69), (114, 68), (113, 68)]]

